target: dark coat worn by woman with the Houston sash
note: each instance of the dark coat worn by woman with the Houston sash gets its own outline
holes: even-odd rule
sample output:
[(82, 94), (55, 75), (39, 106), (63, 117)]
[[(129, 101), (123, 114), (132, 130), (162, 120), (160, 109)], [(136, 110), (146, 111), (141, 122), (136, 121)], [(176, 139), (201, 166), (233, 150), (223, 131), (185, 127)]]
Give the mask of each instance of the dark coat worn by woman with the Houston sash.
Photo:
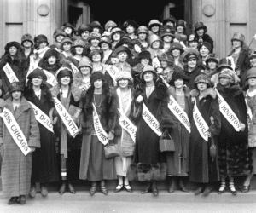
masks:
[(218, 136), (218, 161), (221, 176), (244, 176), (251, 172), (251, 156), (248, 152), (247, 107), (244, 95), (238, 85), (217, 89), (230, 108), (235, 112), (245, 130), (237, 132), (221, 114), (221, 131)]

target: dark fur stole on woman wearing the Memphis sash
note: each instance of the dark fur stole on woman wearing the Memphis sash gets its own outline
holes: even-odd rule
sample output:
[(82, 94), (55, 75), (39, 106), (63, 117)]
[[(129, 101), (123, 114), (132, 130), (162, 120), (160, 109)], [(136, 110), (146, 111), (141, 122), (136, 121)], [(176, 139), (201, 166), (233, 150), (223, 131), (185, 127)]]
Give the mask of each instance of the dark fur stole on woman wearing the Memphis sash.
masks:
[[(94, 98), (94, 87), (90, 87), (86, 93), (83, 93), (82, 104), (84, 109), (84, 118), (82, 125), (84, 127), (85, 134), (90, 134), (93, 129), (93, 98)], [(118, 118), (118, 96), (112, 90), (108, 89), (108, 85), (103, 85), (102, 88), (102, 105), (101, 112), (99, 114), (102, 127), (105, 131), (109, 132), (113, 130)]]

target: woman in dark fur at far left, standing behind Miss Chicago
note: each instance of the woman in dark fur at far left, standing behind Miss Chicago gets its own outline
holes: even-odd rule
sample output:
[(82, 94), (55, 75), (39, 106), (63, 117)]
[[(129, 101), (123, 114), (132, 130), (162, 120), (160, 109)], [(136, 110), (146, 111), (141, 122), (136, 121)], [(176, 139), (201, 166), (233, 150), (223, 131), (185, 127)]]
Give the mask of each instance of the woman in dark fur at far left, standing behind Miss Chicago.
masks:
[(0, 76), (2, 79), (2, 87), (0, 95), (6, 95), (9, 89), (9, 78), (6, 73), (3, 71), (3, 66), (9, 63), (9, 66), (15, 72), (15, 76), (19, 79), (20, 82), (25, 82), (26, 72), (28, 70), (28, 64), (26, 57), (21, 54), (20, 43), (9, 42), (4, 47), (5, 53), (2, 60), (0, 61)]

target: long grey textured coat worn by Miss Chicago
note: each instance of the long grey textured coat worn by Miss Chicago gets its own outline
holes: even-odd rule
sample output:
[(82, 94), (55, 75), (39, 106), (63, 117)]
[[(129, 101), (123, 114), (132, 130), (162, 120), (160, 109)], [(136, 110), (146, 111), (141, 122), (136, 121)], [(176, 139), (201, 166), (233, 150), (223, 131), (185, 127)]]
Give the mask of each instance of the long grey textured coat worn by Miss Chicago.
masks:
[[(3, 102), (0, 106), (1, 111), (4, 107), (14, 114), (16, 122), (26, 136), (28, 146), (40, 147), (38, 122), (26, 98), (21, 97), (20, 106), (17, 108), (16, 112), (14, 112), (12, 98)], [(13, 137), (9, 134), (9, 130), (3, 123), (2, 118), (0, 119), (0, 143), (3, 143), (1, 147), (1, 155), (3, 157), (3, 194), (9, 197), (28, 194), (32, 172), (32, 154), (28, 153), (25, 156), (20, 151)]]

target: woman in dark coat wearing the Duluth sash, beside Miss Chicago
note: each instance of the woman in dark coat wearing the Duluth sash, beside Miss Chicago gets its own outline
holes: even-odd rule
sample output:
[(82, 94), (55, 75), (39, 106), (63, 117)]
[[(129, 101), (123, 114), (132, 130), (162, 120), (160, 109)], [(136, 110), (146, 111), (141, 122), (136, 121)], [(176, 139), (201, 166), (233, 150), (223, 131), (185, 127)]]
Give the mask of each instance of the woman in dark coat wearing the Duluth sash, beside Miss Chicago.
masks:
[[(53, 124), (58, 118), (53, 118), (55, 110), (54, 102), (48, 86), (45, 84), (47, 80), (44, 71), (36, 68), (28, 76), (28, 87), (25, 90), (27, 101), (32, 102), (44, 114), (51, 118)], [(36, 182), (40, 183), (41, 194), (45, 197), (48, 195), (46, 184), (49, 182), (59, 181), (59, 162), (55, 152), (55, 135), (43, 124), (38, 122), (40, 130), (41, 148), (32, 153), (32, 176), (30, 197), (36, 196)]]

